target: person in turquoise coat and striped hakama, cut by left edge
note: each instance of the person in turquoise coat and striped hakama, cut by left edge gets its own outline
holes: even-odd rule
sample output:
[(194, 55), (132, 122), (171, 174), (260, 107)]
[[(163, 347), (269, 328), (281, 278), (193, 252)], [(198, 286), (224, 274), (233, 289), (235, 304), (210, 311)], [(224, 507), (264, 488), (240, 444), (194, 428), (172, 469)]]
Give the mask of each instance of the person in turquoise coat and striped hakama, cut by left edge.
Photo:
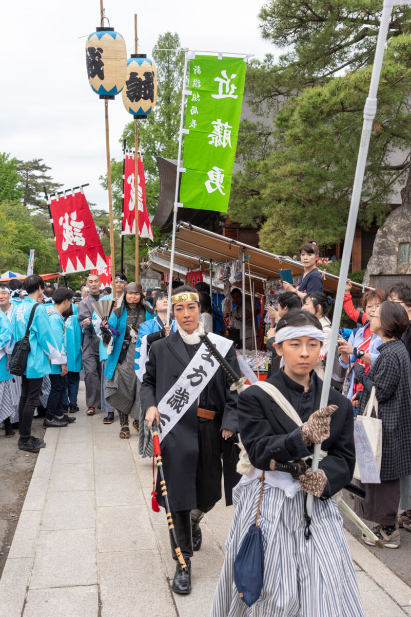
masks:
[(12, 437), (15, 434), (12, 429), (12, 418), (18, 409), (18, 399), (15, 396), (15, 388), (12, 387), (13, 376), (7, 369), (7, 362), (13, 347), (12, 326), (6, 314), (0, 310), (0, 422), (4, 423), (6, 437)]

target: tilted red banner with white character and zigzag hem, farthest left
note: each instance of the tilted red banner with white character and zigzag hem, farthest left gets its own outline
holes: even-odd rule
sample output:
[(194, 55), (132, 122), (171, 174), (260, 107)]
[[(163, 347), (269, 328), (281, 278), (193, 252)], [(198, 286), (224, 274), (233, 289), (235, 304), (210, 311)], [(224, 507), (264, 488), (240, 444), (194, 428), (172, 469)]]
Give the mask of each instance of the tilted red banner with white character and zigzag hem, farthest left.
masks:
[(89, 204), (83, 193), (65, 193), (50, 201), (55, 245), (63, 273), (106, 267)]

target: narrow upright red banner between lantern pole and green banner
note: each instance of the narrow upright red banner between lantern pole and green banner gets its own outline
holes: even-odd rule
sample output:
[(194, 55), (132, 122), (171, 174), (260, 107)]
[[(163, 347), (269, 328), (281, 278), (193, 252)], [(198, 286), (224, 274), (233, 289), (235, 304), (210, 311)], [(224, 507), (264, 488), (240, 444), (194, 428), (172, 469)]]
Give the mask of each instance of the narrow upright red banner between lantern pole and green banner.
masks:
[[(124, 159), (124, 213), (122, 217), (123, 234), (135, 234), (135, 162), (134, 156), (126, 154)], [(138, 235), (140, 238), (154, 240), (153, 228), (146, 208), (146, 180), (142, 159), (138, 159)]]

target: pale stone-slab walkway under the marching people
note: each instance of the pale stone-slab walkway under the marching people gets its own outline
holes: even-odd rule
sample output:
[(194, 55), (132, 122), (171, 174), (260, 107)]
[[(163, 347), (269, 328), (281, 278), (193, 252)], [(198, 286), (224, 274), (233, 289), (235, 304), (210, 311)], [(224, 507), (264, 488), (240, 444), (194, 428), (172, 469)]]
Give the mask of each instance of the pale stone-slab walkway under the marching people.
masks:
[[(104, 425), (102, 412), (76, 418), (46, 431), (0, 581), (0, 617), (207, 617), (233, 508), (221, 502), (206, 515), (193, 592), (173, 594), (166, 518), (151, 511), (151, 460), (138, 456), (135, 432), (119, 439), (118, 421)], [(365, 615), (411, 615), (410, 587), (347, 537)]]

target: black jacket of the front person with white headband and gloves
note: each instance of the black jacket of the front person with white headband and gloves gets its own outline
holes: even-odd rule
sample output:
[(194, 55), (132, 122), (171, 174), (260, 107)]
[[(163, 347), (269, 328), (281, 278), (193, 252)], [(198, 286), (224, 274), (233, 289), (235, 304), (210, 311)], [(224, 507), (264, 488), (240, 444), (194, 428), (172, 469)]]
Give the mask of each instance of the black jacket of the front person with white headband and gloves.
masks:
[[(315, 387), (314, 412), (320, 407), (322, 381), (314, 372), (312, 379)], [(291, 402), (282, 370), (274, 373), (267, 382), (276, 386)], [(330, 437), (321, 445), (321, 449), (328, 452), (319, 463), (319, 468), (324, 470), (328, 479), (322, 494), (324, 499), (335, 495), (351, 481), (356, 461), (353, 406), (333, 388), (330, 389), (328, 404), (338, 405), (338, 409), (331, 416)], [(297, 425), (260, 387), (251, 386), (241, 392), (237, 408), (241, 441), (250, 462), (257, 469), (269, 470), (271, 459), (285, 463), (313, 453), (313, 446), (307, 449), (302, 438), (287, 439), (290, 433), (296, 431)], [(307, 463), (311, 465), (311, 459)]]

